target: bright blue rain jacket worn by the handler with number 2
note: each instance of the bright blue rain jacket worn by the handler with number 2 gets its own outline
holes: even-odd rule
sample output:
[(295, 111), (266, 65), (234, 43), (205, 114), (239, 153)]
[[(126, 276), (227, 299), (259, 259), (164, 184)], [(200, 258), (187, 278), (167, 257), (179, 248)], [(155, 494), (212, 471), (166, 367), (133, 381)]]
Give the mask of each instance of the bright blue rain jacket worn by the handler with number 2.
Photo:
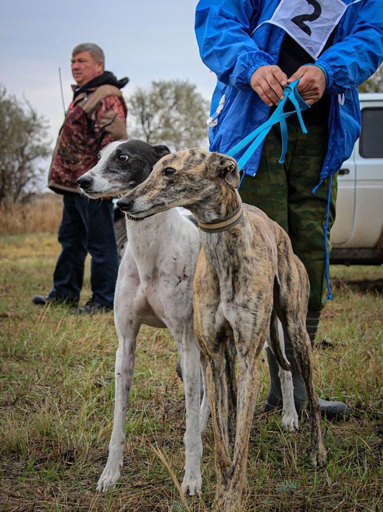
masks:
[[(251, 34), (271, 19), (279, 2), (200, 0), (197, 5), (195, 28), (201, 58), (218, 79), (210, 115), (215, 115), (225, 95), (218, 124), (209, 130), (210, 151), (226, 153), (269, 119), (270, 108), (253, 91), (250, 79), (258, 67), (278, 63), (285, 32), (265, 23)], [(351, 0), (344, 3), (351, 4)], [(357, 87), (379, 67), (382, 54), (382, 0), (362, 0), (350, 6), (338, 23), (334, 44), (316, 61), (327, 74), (326, 92), (331, 95), (329, 146), (318, 181), (337, 172), (350, 157), (360, 135)], [(257, 172), (261, 149), (262, 145), (246, 163), (246, 174)]]

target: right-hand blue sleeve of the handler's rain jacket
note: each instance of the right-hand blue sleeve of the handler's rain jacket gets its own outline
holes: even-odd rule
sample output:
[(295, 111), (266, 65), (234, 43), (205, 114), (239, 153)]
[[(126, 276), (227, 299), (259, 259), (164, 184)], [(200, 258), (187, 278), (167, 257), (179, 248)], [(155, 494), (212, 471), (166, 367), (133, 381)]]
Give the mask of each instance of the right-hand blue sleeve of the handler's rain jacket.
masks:
[(379, 4), (381, 0), (363, 0), (360, 6), (349, 7), (359, 9), (352, 29), (316, 61), (327, 71), (328, 93), (341, 94), (357, 87), (379, 67), (383, 54), (383, 9)]

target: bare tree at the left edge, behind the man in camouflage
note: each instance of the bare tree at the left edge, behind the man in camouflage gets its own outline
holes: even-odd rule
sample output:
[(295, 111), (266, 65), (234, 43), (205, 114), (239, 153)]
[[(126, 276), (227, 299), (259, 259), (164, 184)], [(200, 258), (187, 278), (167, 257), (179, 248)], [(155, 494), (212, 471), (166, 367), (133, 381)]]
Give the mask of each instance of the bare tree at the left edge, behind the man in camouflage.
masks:
[(0, 85), (0, 205), (32, 194), (45, 170), (39, 160), (50, 153), (47, 129), (47, 120), (27, 100), (7, 95)]

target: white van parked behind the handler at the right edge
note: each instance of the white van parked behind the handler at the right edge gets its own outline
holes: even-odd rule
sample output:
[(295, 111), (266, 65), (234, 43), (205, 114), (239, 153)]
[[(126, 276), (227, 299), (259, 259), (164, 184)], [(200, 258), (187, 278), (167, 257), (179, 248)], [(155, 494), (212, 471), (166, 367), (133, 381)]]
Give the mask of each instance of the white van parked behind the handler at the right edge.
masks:
[(383, 263), (383, 93), (360, 94), (362, 130), (338, 175), (331, 263)]

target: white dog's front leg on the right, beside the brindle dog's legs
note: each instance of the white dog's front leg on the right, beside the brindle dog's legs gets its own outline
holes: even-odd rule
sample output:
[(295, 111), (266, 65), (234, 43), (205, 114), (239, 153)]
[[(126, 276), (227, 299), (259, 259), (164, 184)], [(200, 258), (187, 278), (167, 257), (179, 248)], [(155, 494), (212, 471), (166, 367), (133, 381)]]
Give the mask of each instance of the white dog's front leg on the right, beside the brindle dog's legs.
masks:
[[(180, 348), (181, 349), (181, 348)], [(181, 364), (186, 400), (185, 474), (181, 489), (194, 496), (202, 487), (202, 441), (199, 425), (200, 414), (200, 351), (193, 327), (183, 334)]]

